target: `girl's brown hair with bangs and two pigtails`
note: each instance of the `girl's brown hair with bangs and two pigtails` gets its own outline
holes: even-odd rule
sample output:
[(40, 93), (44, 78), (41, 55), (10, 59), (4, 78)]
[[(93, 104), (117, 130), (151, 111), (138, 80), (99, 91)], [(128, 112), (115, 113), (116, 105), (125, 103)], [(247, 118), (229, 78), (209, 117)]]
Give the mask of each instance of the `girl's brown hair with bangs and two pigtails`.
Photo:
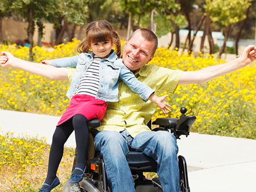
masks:
[(121, 56), (121, 40), (111, 24), (106, 20), (92, 21), (85, 30), (85, 39), (77, 46), (78, 53), (87, 53), (91, 43), (111, 40), (116, 45), (116, 54)]

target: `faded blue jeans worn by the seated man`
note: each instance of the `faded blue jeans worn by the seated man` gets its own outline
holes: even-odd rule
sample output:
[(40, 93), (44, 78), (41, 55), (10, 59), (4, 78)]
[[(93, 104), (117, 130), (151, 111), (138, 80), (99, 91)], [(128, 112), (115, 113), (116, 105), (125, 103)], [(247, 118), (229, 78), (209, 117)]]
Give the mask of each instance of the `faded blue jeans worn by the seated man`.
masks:
[(126, 154), (129, 149), (141, 151), (157, 162), (157, 174), (164, 192), (179, 192), (178, 146), (167, 131), (144, 131), (135, 138), (125, 130), (93, 133), (95, 149), (106, 165), (108, 183), (113, 192), (134, 192), (134, 183)]

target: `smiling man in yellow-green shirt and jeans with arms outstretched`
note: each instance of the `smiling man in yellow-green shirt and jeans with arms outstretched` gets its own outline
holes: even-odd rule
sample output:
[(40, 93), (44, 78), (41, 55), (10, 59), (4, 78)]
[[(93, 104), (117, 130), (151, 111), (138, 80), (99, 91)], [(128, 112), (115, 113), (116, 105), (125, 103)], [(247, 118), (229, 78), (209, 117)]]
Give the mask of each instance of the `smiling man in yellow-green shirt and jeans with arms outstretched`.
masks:
[[(256, 47), (250, 45), (239, 58), (231, 62), (209, 66), (199, 71), (182, 72), (154, 64), (146, 65), (153, 59), (156, 48), (156, 35), (148, 29), (139, 29), (126, 40), (123, 50), (124, 64), (156, 93), (172, 93), (177, 85), (203, 84), (215, 77), (241, 69), (256, 59)], [(29, 65), (31, 62), (19, 60), (7, 52), (3, 52), (1, 57), (0, 64), (4, 67), (13, 66), (53, 80), (68, 80), (68, 72), (72, 70), (35, 63), (32, 66)], [(125, 158), (131, 149), (142, 151), (157, 161), (157, 174), (164, 191), (180, 191), (178, 146), (175, 137), (167, 131), (150, 131), (146, 126), (155, 110), (153, 103), (141, 102), (137, 94), (122, 81), (119, 82), (119, 102), (108, 104), (105, 118), (101, 121), (102, 126), (93, 132), (95, 148), (101, 151), (113, 192), (135, 191)]]

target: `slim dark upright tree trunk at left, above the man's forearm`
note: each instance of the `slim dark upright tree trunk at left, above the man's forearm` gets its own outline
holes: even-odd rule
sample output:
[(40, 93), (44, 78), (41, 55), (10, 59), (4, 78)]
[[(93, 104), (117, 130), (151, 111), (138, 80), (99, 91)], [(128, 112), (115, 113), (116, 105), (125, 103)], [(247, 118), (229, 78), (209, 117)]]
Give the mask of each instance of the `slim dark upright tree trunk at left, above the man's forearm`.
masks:
[(28, 41), (29, 41), (29, 60), (33, 61), (33, 47), (34, 47), (34, 41), (33, 41), (33, 35), (35, 31), (35, 22), (33, 20), (34, 15), (34, 8), (33, 4), (30, 4), (30, 9), (28, 13)]

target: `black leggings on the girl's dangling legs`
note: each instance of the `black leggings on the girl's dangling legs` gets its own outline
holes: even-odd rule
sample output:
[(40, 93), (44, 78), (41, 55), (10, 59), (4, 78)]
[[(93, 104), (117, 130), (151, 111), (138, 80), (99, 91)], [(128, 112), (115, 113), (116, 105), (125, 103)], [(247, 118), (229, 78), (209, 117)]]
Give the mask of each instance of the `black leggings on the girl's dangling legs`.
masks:
[[(84, 115), (76, 114), (60, 126), (56, 127), (52, 137), (52, 145), (49, 155), (49, 164), (46, 183), (51, 184), (56, 177), (56, 173), (63, 156), (64, 144), (75, 130), (77, 146), (77, 165), (82, 168), (85, 166), (87, 151), (89, 145), (89, 131), (87, 127), (87, 118)], [(82, 168), (83, 169), (83, 168)]]

